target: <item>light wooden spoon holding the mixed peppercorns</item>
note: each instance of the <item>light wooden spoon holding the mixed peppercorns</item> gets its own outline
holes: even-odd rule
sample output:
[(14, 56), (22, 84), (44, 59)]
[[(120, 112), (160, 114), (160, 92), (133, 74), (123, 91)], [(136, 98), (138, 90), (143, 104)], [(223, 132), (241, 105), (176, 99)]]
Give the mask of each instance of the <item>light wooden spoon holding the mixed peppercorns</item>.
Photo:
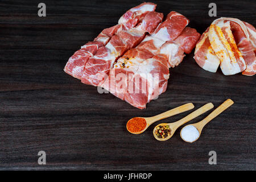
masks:
[(193, 113), (188, 114), (186, 117), (180, 119), (179, 121), (176, 121), (174, 123), (160, 123), (159, 125), (161, 126), (166, 126), (168, 125), (169, 128), (171, 129), (171, 134), (170, 136), (166, 137), (166, 138), (158, 138), (158, 136), (155, 134), (155, 130), (159, 125), (156, 125), (154, 130), (153, 130), (153, 135), (155, 137), (155, 139), (159, 140), (159, 141), (165, 141), (168, 140), (172, 137), (172, 135), (174, 135), (175, 131), (177, 130), (178, 127), (180, 127), (181, 125), (183, 125), (184, 123), (187, 123), (188, 121), (191, 121), (192, 119), (198, 117), (199, 115), (205, 113), (206, 111), (210, 110), (213, 108), (213, 104), (212, 103), (208, 103), (205, 104), (204, 106), (200, 107), (199, 109), (193, 111)]

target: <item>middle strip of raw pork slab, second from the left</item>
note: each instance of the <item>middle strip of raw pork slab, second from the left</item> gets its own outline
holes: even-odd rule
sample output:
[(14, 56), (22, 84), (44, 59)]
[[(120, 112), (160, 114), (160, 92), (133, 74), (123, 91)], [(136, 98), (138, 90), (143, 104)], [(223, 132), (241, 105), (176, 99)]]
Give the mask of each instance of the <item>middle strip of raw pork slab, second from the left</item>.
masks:
[(81, 82), (93, 86), (104, 82), (115, 60), (127, 50), (137, 46), (146, 32), (152, 33), (162, 19), (162, 13), (152, 11), (147, 13), (136, 27), (117, 32), (105, 47), (98, 49), (97, 53), (87, 61)]

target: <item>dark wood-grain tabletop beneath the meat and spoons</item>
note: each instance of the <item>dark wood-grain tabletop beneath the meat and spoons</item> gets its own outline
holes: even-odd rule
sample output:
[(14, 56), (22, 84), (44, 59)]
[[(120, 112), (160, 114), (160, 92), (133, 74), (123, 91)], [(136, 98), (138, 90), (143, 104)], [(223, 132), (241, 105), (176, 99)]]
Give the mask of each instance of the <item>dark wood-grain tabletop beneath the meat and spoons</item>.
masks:
[[(136, 109), (112, 94), (97, 93), (63, 68), (80, 46), (143, 1), (45, 0), (42, 18), (40, 2), (0, 2), (0, 169), (255, 170), (255, 76), (206, 72), (191, 53), (170, 70), (167, 91), (147, 109)], [(184, 14), (200, 33), (215, 19), (208, 16), (212, 1), (153, 2), (164, 15)], [(214, 2), (218, 18), (256, 26), (255, 1)], [(152, 136), (157, 123), (141, 135), (126, 131), (131, 117), (150, 117), (187, 102), (196, 109), (207, 102), (217, 107), (227, 98), (235, 104), (193, 144), (181, 140), (180, 129), (171, 140), (158, 142)], [(46, 151), (46, 165), (38, 164), (39, 151)], [(209, 151), (217, 152), (217, 165), (208, 164)]]

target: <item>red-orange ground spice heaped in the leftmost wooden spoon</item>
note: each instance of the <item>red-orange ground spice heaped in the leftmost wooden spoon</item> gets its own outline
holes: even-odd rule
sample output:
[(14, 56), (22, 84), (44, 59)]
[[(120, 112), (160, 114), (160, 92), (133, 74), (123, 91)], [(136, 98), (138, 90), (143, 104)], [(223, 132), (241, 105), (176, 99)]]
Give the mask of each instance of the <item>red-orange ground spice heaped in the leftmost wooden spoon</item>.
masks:
[(139, 131), (142, 131), (145, 129), (146, 126), (146, 119), (138, 117), (130, 119), (126, 124), (127, 130), (131, 133), (137, 133)]

